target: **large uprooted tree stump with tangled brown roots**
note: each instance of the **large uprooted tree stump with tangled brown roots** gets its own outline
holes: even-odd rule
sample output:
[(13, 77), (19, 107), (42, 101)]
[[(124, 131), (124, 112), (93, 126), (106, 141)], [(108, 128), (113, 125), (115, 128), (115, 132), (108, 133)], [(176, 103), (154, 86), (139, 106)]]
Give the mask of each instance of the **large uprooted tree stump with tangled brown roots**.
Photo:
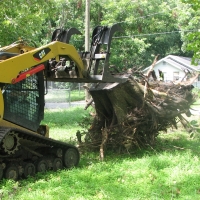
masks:
[(192, 88), (183, 82), (147, 82), (142, 74), (139, 78), (130, 75), (124, 83), (97, 84), (90, 89), (96, 116), (85, 145), (100, 148), (101, 158), (104, 148), (129, 152), (153, 145), (160, 131), (177, 128), (177, 122), (184, 121), (182, 114), (191, 115)]

